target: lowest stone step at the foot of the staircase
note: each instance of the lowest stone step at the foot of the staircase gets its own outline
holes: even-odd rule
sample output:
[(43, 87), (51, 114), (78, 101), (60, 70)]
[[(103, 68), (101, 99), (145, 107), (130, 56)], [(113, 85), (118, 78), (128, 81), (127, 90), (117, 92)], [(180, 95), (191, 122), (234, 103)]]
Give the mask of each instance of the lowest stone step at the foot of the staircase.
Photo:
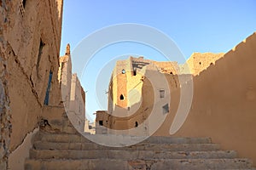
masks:
[(251, 161), (247, 159), (165, 159), (131, 160), (116, 159), (80, 159), (80, 160), (26, 160), (25, 169), (249, 169)]

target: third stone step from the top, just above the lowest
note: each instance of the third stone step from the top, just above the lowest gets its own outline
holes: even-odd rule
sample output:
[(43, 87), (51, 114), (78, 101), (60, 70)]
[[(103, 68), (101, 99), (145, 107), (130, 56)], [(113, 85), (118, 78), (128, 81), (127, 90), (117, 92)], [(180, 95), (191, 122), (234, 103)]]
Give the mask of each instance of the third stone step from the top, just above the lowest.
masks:
[(236, 151), (154, 151), (154, 150), (30, 150), (31, 159), (217, 159), (235, 158)]

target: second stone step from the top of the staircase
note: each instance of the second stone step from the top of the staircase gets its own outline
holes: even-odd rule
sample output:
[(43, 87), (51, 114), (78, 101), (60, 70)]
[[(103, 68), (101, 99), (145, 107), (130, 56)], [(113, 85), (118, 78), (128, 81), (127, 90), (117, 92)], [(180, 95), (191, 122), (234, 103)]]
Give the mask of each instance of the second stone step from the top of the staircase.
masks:
[(166, 150), (166, 151), (208, 151), (219, 150), (219, 144), (135, 144), (126, 147), (108, 147), (95, 143), (50, 143), (34, 142), (36, 150)]

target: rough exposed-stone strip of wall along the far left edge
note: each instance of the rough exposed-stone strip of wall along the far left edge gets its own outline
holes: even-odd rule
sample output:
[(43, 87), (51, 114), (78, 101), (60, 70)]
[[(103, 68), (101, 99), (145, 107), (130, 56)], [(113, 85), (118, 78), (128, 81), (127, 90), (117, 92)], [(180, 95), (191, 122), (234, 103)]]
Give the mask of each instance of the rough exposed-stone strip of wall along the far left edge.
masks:
[(9, 88), (7, 78), (8, 45), (3, 29), (8, 25), (8, 2), (0, 1), (0, 169), (7, 169), (11, 127), (9, 110)]

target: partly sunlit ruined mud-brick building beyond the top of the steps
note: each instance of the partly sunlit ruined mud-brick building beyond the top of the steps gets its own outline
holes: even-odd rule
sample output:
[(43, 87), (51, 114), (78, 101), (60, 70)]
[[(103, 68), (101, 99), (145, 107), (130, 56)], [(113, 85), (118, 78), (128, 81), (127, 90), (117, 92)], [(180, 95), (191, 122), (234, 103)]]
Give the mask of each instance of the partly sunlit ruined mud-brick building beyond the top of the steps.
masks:
[[(117, 61), (109, 82), (108, 111), (96, 112), (96, 133), (153, 134), (149, 127), (154, 125), (148, 124), (148, 116), (152, 112), (163, 115), (169, 112), (171, 93), (182, 86), (179, 79), (192, 81), (189, 75), (198, 75), (223, 55), (195, 53), (183, 65), (132, 56)], [(140, 133), (132, 133), (131, 129), (140, 125)]]

